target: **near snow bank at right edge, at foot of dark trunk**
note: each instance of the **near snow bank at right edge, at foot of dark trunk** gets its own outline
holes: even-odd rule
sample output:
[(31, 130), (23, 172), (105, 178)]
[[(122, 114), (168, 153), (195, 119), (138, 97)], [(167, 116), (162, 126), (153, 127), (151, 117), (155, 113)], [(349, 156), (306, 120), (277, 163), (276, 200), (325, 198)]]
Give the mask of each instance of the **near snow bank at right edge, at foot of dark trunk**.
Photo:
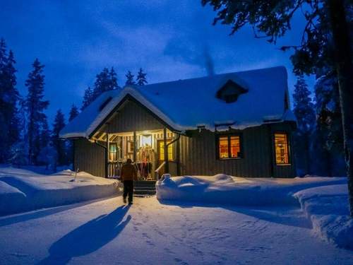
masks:
[(304, 189), (294, 194), (316, 234), (338, 247), (353, 249), (353, 219), (349, 217), (347, 184)]

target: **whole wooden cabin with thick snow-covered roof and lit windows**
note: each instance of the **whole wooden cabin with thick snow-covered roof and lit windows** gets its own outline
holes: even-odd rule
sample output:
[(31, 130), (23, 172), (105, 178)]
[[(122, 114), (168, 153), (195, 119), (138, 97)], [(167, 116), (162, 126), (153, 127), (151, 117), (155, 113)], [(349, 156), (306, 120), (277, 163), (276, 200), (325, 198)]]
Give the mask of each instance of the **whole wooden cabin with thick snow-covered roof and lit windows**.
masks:
[(102, 93), (61, 130), (74, 170), (141, 180), (162, 174), (294, 177), (287, 71), (278, 66)]

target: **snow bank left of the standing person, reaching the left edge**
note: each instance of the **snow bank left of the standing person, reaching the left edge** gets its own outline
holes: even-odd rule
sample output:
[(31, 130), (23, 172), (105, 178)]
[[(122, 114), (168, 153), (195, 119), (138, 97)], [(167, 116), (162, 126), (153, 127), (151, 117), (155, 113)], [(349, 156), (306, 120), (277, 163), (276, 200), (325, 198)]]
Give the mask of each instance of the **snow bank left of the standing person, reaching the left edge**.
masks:
[(0, 215), (31, 211), (116, 194), (119, 182), (86, 172), (64, 170), (40, 175), (28, 170), (0, 168)]

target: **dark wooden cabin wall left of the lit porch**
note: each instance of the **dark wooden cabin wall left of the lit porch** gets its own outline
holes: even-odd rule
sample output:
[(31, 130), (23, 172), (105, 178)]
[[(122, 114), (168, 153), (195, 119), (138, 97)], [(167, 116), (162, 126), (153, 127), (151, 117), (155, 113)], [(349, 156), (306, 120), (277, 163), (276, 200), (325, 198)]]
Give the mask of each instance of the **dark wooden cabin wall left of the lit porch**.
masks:
[(105, 149), (87, 139), (76, 139), (74, 144), (74, 169), (105, 177)]

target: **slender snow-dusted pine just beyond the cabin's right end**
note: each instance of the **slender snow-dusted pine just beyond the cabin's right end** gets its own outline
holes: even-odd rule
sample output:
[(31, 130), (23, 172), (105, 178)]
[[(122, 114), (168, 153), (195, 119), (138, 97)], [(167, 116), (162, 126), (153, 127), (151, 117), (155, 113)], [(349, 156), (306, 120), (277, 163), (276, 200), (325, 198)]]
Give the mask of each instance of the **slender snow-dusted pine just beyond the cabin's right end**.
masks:
[(315, 126), (315, 112), (310, 91), (303, 75), (297, 77), (294, 85), (294, 114), (298, 128), (294, 135), (295, 155), (298, 171), (301, 175), (311, 174), (311, 134)]

